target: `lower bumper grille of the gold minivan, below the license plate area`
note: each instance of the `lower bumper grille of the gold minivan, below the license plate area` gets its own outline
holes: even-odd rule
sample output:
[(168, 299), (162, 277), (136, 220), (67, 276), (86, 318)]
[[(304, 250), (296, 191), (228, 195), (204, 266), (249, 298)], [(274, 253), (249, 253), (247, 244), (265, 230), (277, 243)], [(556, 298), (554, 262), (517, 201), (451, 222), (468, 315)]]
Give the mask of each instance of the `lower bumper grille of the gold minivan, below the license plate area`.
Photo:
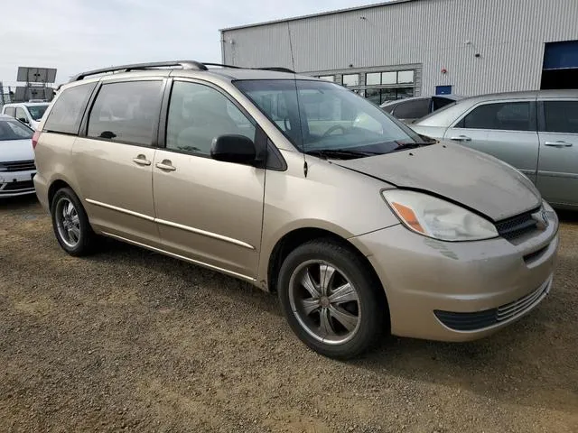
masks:
[(551, 280), (548, 280), (532, 293), (508, 304), (504, 304), (497, 309), (484, 309), (483, 311), (476, 311), (475, 313), (456, 313), (436, 309), (433, 313), (443, 325), (453, 330), (479, 331), (484, 327), (491, 327), (504, 320), (520, 316), (528, 309), (532, 309), (532, 307), (536, 305), (536, 302), (547, 293), (550, 288), (550, 283)]

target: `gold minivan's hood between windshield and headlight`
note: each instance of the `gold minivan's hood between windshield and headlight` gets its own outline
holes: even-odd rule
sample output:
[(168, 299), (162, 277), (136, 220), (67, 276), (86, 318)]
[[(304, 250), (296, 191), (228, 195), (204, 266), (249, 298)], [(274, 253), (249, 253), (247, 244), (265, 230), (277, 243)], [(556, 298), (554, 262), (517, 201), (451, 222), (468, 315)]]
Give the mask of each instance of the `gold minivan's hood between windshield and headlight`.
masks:
[(421, 189), (499, 221), (540, 206), (534, 184), (505, 162), (453, 143), (334, 161), (398, 188)]

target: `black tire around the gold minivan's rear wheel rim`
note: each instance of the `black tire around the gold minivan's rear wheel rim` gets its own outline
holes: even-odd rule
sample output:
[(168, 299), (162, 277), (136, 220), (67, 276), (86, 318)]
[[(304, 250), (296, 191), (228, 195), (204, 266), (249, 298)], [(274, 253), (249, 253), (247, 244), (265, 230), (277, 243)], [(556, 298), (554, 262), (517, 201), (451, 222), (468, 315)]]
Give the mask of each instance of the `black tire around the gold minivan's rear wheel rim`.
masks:
[[(61, 226), (61, 216), (57, 217), (57, 213), (61, 212), (61, 206), (64, 203), (70, 202), (74, 209), (76, 210), (75, 215), (78, 216), (78, 228), (79, 228), (79, 238), (76, 244), (67, 243), (67, 239), (63, 238), (62, 230), (59, 230)], [(79, 198), (70, 188), (62, 188), (56, 191), (51, 203), (51, 217), (52, 217), (52, 228), (54, 230), (54, 235), (56, 235), (56, 240), (61, 245), (61, 248), (76, 257), (88, 255), (93, 253), (95, 249), (95, 244), (97, 243), (97, 235), (92, 230), (89, 223), (89, 217), (87, 216), (82, 203), (80, 203)], [(70, 239), (68, 239), (70, 241)]]

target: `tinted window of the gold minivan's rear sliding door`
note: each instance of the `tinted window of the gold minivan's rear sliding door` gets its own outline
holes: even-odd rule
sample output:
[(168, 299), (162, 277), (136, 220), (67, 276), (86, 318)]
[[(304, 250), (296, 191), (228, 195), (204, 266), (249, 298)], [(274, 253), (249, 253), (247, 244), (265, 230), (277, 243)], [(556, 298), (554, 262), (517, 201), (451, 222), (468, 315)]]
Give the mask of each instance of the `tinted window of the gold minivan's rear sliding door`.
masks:
[(162, 81), (103, 85), (90, 110), (89, 137), (152, 145), (159, 122), (162, 88)]

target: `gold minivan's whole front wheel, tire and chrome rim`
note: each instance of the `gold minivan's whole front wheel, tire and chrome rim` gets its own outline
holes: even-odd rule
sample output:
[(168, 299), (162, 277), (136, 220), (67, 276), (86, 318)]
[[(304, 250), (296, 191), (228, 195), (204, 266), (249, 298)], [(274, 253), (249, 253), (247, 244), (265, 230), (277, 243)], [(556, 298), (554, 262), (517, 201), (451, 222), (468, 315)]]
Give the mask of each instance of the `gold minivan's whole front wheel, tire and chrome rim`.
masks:
[(384, 331), (381, 285), (358, 253), (332, 240), (313, 240), (289, 253), (277, 289), (294, 333), (322, 355), (359, 355)]

